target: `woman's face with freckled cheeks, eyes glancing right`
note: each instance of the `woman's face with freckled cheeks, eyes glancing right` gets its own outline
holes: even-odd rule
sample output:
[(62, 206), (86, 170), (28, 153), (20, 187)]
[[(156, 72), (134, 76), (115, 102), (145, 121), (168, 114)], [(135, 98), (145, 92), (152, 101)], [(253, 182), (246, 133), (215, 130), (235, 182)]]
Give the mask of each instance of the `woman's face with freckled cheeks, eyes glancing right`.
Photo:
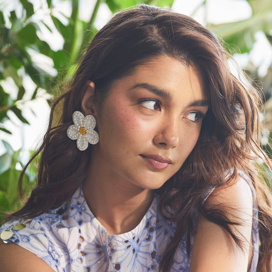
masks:
[(168, 56), (114, 81), (95, 110), (97, 170), (141, 188), (161, 187), (191, 153), (207, 101), (200, 71)]

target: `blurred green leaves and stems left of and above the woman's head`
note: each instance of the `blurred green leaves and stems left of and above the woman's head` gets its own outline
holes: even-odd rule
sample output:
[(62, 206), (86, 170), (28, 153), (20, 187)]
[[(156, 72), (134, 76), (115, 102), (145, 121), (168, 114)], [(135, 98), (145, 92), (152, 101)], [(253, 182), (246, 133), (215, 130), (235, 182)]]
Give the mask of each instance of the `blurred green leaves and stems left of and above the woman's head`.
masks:
[[(29, 76), (35, 83), (36, 89), (30, 100), (35, 100), (37, 93), (44, 89), (52, 93), (58, 82), (69, 80), (76, 69), (85, 46), (88, 45), (97, 29), (94, 27), (94, 20), (98, 8), (102, 3), (106, 3), (109, 9), (114, 13), (117, 10), (125, 9), (137, 4), (156, 4), (160, 7), (171, 7), (174, 0), (96, 0), (94, 9), (89, 21), (80, 19), (80, 0), (72, 0), (71, 15), (65, 16), (54, 7), (51, 0), (40, 1), (40, 10), (50, 14), (54, 28), (64, 39), (63, 48), (58, 51), (52, 50), (50, 45), (40, 38), (41, 24), (50, 32), (54, 28), (43, 18), (35, 17), (33, 2), (28, 0), (18, 0), (22, 6), (22, 12), (18, 12), (16, 1), (14, 1), (14, 10), (5, 14), (5, 3), (0, 3), (0, 130), (7, 134), (12, 134), (5, 128), (5, 121), (10, 119), (10, 112), (13, 112), (23, 123), (29, 123), (22, 115), (21, 106), (29, 101), (26, 99), (26, 89), (23, 85), (23, 79)], [(43, 3), (44, 2), (44, 3)], [(43, 3), (43, 4), (42, 4)], [(44, 8), (44, 4), (46, 7)], [(54, 12), (55, 11), (55, 12)], [(5, 16), (6, 15), (6, 16)], [(60, 16), (57, 16), (60, 15)], [(65, 17), (67, 24), (61, 20)], [(57, 76), (48, 74), (39, 63), (35, 62), (35, 54), (46, 56), (54, 62), (54, 68), (57, 70)], [(16, 98), (12, 98), (8, 89), (5, 89), (6, 80), (11, 80), (17, 88)], [(50, 101), (48, 101), (50, 103)], [(21, 202), (17, 195), (17, 181), (20, 170), (17, 170), (20, 150), (13, 151), (10, 144), (3, 141), (6, 153), (0, 157), (0, 224), (5, 217), (4, 211), (17, 209)], [(30, 167), (24, 176), (24, 189), (26, 194), (31, 189), (35, 176), (35, 168)]]

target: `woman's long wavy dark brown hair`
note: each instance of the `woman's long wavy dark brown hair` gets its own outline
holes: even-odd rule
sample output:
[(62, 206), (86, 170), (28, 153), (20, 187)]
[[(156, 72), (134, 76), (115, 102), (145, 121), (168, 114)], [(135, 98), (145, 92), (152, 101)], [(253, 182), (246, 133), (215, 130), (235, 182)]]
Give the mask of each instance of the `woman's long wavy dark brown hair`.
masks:
[[(261, 157), (271, 167), (259, 144), (260, 95), (233, 76), (228, 65), (230, 56), (211, 31), (188, 16), (152, 6), (142, 5), (118, 13), (95, 35), (68, 90), (52, 105), (48, 130), (35, 154), (41, 153), (37, 185), (24, 206), (11, 217), (31, 218), (56, 208), (85, 180), (91, 147), (79, 151), (66, 130), (71, 125), (72, 113), (82, 111), (86, 82), (95, 83), (94, 97), (103, 103), (114, 80), (131, 75), (138, 65), (163, 54), (200, 68), (209, 95), (209, 110), (193, 151), (179, 171), (157, 190), (160, 211), (163, 214), (165, 207), (171, 207), (170, 220), (177, 224), (160, 268), (170, 269), (169, 259), (173, 259), (185, 233), (189, 255), (195, 211), (224, 227), (241, 246), (224, 209), (206, 207), (204, 201), (211, 186), (231, 184), (241, 170), (252, 181), (257, 195), (261, 222), (258, 271), (270, 271), (271, 201), (255, 166)], [(20, 193), (22, 176), (29, 163), (19, 179)], [(232, 175), (226, 178), (230, 170)]]

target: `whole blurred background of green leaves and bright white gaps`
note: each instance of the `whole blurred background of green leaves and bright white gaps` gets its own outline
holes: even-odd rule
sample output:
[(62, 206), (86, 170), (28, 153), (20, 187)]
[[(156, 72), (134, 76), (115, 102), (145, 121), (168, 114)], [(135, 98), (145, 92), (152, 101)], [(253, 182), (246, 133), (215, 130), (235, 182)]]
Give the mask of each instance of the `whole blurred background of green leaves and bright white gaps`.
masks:
[[(271, 0), (0, 0), (0, 223), (17, 209), (22, 166), (46, 131), (52, 98), (114, 13), (137, 4), (172, 8), (211, 29), (262, 92), (263, 149), (271, 157)], [(230, 62), (235, 73), (235, 65)], [(272, 173), (262, 164), (271, 184)], [(35, 163), (24, 176), (28, 194)], [(271, 186), (270, 186), (271, 187)]]

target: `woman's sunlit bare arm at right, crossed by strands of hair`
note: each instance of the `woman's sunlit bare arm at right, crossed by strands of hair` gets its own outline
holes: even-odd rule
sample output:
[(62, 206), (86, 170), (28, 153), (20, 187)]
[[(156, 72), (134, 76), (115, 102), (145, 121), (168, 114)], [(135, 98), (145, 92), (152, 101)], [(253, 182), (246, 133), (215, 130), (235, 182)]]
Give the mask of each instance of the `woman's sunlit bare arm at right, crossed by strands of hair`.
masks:
[[(244, 240), (242, 251), (230, 234), (222, 227), (200, 216), (192, 248), (190, 272), (246, 272), (249, 264), (252, 232), (252, 192), (246, 181), (240, 178), (236, 184), (215, 191), (208, 198), (208, 205), (223, 203), (229, 207), (235, 221), (241, 226), (234, 233)], [(241, 235), (242, 234), (242, 235)]]

